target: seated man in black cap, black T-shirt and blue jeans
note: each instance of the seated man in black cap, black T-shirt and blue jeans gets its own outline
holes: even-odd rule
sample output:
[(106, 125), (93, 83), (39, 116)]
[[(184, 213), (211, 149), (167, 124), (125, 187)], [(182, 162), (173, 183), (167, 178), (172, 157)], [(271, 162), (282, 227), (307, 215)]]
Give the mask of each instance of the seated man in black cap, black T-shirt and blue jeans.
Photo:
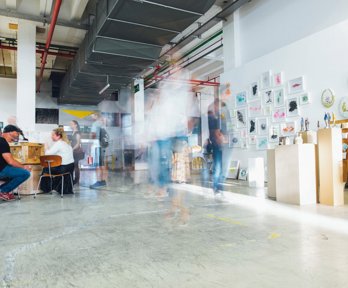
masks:
[(30, 177), (30, 167), (24, 166), (13, 159), (10, 151), (10, 142), (18, 141), (20, 129), (14, 125), (7, 125), (0, 137), (0, 179), (7, 182), (0, 186), (0, 200), (14, 199), (12, 191)]

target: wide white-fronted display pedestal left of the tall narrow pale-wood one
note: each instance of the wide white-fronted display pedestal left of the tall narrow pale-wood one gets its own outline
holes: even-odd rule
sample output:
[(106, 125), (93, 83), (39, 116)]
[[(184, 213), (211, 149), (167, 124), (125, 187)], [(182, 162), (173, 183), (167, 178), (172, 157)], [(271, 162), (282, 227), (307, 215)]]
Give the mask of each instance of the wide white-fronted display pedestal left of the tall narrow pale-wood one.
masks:
[(276, 147), (275, 171), (277, 201), (316, 204), (314, 144)]

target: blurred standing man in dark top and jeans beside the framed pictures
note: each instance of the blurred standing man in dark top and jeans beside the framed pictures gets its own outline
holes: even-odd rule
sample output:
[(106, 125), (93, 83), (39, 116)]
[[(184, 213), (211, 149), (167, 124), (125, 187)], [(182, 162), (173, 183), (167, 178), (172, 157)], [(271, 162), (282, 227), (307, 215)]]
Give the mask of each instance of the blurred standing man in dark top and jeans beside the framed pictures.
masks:
[(222, 183), (225, 180), (225, 171), (222, 166), (222, 152), (227, 145), (226, 115), (222, 113), (225, 103), (215, 99), (208, 108), (209, 139), (213, 150), (213, 190), (215, 195), (222, 195)]

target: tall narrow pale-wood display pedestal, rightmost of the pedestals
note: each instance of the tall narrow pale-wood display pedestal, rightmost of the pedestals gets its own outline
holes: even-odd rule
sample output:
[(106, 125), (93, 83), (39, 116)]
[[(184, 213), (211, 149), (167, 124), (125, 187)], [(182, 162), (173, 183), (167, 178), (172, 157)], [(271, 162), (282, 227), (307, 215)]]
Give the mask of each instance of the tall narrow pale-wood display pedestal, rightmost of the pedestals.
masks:
[(342, 130), (318, 130), (319, 202), (325, 205), (344, 205), (342, 161)]

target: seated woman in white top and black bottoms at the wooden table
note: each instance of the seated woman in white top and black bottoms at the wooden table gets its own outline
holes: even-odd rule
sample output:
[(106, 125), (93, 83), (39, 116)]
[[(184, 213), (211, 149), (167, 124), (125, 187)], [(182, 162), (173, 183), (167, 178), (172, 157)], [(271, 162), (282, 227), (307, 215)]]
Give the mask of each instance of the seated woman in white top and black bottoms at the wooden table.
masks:
[[(64, 132), (63, 128), (56, 128), (52, 131), (52, 140), (54, 141), (54, 144), (51, 148), (46, 150), (46, 155), (59, 155), (62, 157), (62, 164), (57, 167), (51, 168), (51, 174), (63, 174), (63, 173), (70, 173), (71, 177), (74, 173), (74, 156), (73, 156), (73, 149), (69, 144), (68, 138)], [(48, 168), (44, 168), (42, 173), (49, 173)], [(71, 180), (69, 175), (64, 176), (64, 187), (63, 187), (63, 193), (64, 194), (71, 194), (73, 193)], [(51, 191), (51, 179), (48, 177), (42, 178), (40, 189), (43, 192), (50, 192)], [(53, 178), (52, 187), (56, 191), (61, 191), (61, 184), (62, 179), (61, 177), (55, 177)]]

